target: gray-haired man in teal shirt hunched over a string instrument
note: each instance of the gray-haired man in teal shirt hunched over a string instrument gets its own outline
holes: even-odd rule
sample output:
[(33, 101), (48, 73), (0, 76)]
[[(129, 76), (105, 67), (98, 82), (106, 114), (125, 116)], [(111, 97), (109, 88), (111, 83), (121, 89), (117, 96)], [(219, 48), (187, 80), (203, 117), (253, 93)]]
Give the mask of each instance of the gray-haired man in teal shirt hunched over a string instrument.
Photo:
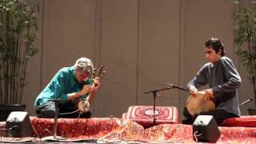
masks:
[[(90, 111), (80, 113), (77, 106), (78, 99), (85, 100), (92, 91), (91, 75), (94, 66), (89, 58), (78, 58), (74, 66), (63, 67), (58, 70), (50, 83), (38, 95), (34, 102), (38, 118), (54, 118), (54, 101), (58, 106), (58, 118), (90, 118)], [(98, 78), (94, 79), (94, 90), (100, 86)], [(72, 113), (76, 111), (75, 113)], [(66, 113), (66, 114), (63, 114)], [(70, 114), (69, 114), (70, 113)]]

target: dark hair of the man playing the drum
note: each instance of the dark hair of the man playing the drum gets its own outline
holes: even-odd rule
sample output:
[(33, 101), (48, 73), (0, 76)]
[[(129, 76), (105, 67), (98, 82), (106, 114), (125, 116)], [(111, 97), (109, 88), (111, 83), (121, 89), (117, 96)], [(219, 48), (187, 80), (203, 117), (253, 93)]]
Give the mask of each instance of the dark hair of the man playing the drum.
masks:
[(224, 44), (218, 38), (210, 38), (205, 47), (212, 48), (216, 53), (221, 52), (221, 56), (225, 55)]

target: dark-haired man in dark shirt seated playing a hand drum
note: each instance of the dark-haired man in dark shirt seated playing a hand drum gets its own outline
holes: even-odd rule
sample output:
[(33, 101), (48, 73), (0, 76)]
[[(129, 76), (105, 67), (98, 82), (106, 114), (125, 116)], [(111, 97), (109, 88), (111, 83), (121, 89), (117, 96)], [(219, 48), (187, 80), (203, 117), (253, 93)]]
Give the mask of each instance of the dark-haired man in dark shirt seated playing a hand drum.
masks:
[[(205, 43), (205, 54), (208, 63), (198, 71), (198, 74), (188, 82), (187, 87), (192, 96), (196, 96), (198, 87), (208, 84), (209, 89), (205, 91), (204, 101), (213, 100), (214, 110), (199, 112), (193, 116), (189, 113), (188, 107), (183, 110), (186, 117), (183, 124), (193, 124), (198, 115), (212, 115), (218, 124), (226, 118), (240, 116), (238, 103), (238, 87), (242, 81), (234, 63), (225, 55), (223, 44), (218, 38), (210, 38)], [(193, 104), (192, 104), (193, 105)]]

